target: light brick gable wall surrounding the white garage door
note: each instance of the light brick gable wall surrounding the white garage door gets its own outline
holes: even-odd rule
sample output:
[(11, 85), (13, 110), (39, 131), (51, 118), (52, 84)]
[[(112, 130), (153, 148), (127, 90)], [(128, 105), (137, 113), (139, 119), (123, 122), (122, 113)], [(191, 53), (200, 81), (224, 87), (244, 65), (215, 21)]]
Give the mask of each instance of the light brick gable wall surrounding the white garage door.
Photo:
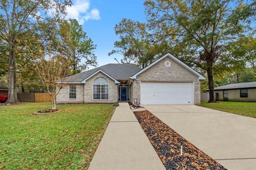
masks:
[[(171, 65), (165, 66), (165, 62), (169, 61)], [(134, 80), (134, 98), (140, 103), (140, 82), (156, 81), (156, 82), (194, 82), (194, 104), (200, 105), (200, 81), (197, 75), (191, 73), (185, 67), (173, 61), (170, 57), (166, 57), (145, 72), (138, 75)], [(133, 100), (132, 100), (133, 102)]]

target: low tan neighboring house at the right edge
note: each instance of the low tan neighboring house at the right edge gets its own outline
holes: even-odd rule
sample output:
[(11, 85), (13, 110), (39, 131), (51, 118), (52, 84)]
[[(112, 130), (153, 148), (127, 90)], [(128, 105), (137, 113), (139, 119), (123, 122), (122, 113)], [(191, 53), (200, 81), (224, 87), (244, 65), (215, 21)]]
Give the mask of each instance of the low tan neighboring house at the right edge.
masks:
[[(205, 90), (209, 94), (209, 90)], [(214, 88), (215, 99), (225, 101), (256, 101), (256, 82), (228, 84)]]

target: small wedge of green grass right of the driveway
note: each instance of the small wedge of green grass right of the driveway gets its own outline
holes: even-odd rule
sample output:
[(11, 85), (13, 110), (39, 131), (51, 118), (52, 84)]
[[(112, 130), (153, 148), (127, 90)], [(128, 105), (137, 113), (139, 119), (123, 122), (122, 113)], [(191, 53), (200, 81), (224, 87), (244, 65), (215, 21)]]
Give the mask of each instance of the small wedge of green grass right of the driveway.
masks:
[(256, 118), (256, 103), (239, 101), (219, 101), (219, 103), (201, 102), (201, 106), (219, 111)]

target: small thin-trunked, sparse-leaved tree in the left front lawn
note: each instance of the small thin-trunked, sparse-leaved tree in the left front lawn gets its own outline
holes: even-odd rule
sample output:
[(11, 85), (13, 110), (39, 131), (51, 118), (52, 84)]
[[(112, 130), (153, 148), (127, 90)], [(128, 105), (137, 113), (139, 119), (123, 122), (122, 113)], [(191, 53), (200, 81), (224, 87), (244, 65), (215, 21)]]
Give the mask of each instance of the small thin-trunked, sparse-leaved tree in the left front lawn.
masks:
[[(59, 43), (49, 40), (42, 46), (38, 43), (37, 53), (32, 52), (34, 71), (51, 95), (52, 109), (56, 109), (56, 97), (65, 83), (59, 81), (69, 75), (71, 61), (59, 50)], [(36, 55), (35, 55), (36, 54)]]

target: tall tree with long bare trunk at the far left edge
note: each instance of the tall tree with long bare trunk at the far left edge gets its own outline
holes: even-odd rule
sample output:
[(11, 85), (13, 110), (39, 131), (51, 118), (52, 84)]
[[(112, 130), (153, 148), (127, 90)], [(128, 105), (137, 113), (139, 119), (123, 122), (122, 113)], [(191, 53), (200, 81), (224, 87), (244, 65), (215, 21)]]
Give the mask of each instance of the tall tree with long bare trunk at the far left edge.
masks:
[[(30, 30), (38, 20), (51, 15), (65, 14), (65, 7), (71, 1), (61, 0), (1, 0), (0, 1), (0, 37), (7, 46), (9, 69), (8, 103), (17, 101), (16, 95), (16, 58), (20, 36)], [(41, 14), (43, 13), (43, 14)]]

